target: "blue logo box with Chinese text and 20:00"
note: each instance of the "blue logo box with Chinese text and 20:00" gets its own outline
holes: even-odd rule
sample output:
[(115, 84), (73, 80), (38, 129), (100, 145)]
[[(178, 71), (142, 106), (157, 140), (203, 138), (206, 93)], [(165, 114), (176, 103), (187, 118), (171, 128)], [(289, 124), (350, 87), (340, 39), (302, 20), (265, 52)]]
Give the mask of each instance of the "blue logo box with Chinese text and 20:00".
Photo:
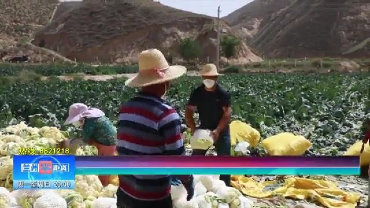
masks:
[(74, 189), (73, 155), (14, 155), (13, 188)]

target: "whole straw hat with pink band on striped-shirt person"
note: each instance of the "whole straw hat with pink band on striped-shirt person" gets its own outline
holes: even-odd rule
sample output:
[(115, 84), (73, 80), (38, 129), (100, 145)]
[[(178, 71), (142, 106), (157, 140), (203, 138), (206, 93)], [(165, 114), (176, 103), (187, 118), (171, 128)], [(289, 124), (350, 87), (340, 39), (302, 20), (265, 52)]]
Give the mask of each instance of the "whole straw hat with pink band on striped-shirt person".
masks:
[(186, 73), (184, 66), (169, 66), (161, 51), (149, 49), (139, 55), (139, 73), (128, 79), (129, 87), (144, 87), (174, 80)]

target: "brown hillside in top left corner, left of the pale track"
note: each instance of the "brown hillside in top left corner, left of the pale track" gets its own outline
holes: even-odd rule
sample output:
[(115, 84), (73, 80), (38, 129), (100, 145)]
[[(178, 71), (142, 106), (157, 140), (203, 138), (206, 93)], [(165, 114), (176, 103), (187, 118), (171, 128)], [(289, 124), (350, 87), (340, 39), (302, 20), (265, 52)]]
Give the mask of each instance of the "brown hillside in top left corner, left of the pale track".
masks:
[(46, 50), (28, 44), (33, 34), (48, 23), (58, 0), (0, 1), (0, 61), (30, 55), (35, 62), (58, 60)]

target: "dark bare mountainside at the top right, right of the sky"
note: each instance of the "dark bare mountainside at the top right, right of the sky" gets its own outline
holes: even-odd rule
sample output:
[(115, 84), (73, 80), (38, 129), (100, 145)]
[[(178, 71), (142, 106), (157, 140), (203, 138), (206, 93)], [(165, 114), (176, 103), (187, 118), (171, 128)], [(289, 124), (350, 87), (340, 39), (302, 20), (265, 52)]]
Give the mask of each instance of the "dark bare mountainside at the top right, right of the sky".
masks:
[(265, 57), (370, 56), (369, 0), (255, 0), (225, 20)]

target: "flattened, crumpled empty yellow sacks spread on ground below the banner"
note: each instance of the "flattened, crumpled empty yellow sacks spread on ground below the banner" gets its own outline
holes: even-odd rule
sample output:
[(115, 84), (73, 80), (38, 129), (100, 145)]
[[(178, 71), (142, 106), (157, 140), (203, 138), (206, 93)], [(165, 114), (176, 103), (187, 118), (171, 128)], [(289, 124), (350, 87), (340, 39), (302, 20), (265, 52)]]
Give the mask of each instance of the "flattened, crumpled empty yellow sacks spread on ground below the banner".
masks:
[[(253, 178), (233, 176), (231, 185), (243, 194), (255, 198), (268, 198), (274, 195), (295, 199), (316, 200), (327, 208), (355, 208), (361, 195), (345, 192), (332, 181), (312, 180), (306, 178), (286, 178), (285, 184), (273, 191), (263, 191), (267, 185), (276, 181), (256, 182)], [(333, 199), (335, 198), (335, 199)]]

